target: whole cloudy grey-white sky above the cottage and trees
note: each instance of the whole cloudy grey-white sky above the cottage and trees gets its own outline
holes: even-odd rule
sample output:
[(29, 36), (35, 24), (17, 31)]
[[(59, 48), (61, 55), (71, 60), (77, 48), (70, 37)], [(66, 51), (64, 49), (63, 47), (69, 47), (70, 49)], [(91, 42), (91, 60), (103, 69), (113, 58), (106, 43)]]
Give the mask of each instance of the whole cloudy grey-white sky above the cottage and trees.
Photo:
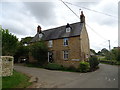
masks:
[[(63, 0), (79, 17), (83, 11), (90, 48), (96, 52), (118, 46), (119, 0)], [(119, 4), (120, 5), (120, 4)], [(1, 0), (0, 25), (19, 40), (42, 30), (79, 22), (61, 0)]]

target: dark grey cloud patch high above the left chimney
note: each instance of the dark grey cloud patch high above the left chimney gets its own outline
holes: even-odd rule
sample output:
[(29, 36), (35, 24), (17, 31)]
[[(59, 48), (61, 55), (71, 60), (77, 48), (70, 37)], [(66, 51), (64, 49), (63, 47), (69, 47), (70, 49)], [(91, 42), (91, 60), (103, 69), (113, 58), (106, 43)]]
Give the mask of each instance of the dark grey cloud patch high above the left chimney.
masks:
[(24, 5), (38, 23), (44, 26), (57, 24), (53, 2), (24, 2)]

